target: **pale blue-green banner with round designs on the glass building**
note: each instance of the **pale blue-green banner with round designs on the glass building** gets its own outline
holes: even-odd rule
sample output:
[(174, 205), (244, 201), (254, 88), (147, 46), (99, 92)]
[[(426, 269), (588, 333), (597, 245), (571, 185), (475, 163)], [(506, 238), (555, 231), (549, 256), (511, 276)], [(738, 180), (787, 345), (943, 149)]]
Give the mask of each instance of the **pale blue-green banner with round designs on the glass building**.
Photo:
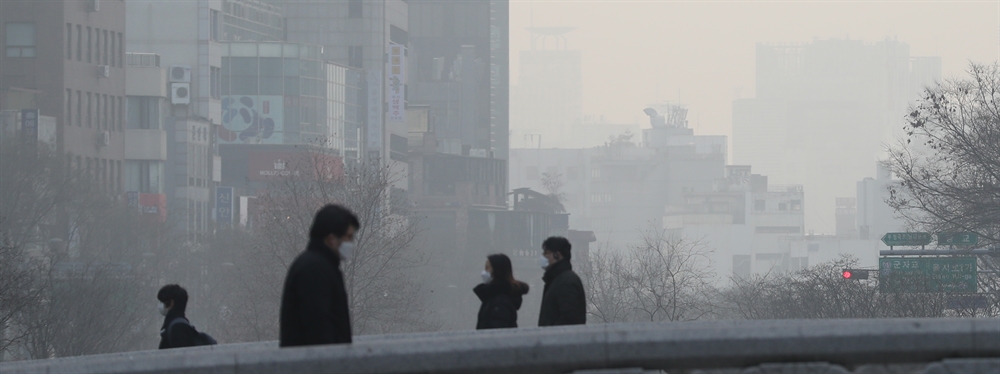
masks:
[(284, 109), (280, 95), (223, 96), (219, 144), (283, 144)]

